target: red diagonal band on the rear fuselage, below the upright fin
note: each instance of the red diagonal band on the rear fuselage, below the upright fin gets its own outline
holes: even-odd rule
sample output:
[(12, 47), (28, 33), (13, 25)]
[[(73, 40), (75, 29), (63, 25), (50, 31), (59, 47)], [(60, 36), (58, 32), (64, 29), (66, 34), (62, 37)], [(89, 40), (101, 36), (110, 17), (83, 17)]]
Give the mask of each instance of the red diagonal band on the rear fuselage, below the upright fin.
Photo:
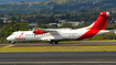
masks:
[(82, 40), (82, 39), (86, 39), (86, 37), (92, 37), (92, 36), (96, 35), (99, 31), (101, 30), (89, 30), (84, 35), (78, 37), (77, 40)]

